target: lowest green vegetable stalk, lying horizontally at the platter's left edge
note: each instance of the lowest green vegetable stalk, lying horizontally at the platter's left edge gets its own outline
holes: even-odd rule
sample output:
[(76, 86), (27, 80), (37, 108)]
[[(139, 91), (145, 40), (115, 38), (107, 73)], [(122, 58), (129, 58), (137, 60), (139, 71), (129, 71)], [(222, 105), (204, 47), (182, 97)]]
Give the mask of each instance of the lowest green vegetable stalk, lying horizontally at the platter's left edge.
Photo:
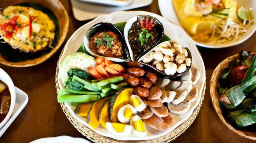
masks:
[(57, 96), (58, 102), (71, 102), (71, 103), (83, 103), (98, 101), (99, 95), (59, 95)]

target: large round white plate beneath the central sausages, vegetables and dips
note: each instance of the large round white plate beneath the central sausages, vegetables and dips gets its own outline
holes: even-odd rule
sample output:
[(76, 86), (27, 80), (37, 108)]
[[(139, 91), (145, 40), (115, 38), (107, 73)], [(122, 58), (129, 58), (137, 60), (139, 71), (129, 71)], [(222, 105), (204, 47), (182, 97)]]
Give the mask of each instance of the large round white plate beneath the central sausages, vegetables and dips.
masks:
[[(113, 23), (113, 24), (120, 23), (120, 22), (128, 21), (131, 17), (134, 17), (136, 15), (141, 15), (141, 14), (147, 14), (147, 15), (151, 15), (151, 16), (157, 18), (163, 24), (163, 27), (165, 29), (164, 30), (165, 35), (169, 36), (174, 41), (179, 41), (179, 42), (187, 45), (187, 47), (190, 49), (192, 57), (193, 57), (193, 66), (196, 67), (197, 69), (199, 69), (199, 71), (201, 73), (200, 80), (196, 86), (197, 86), (197, 89), (199, 89), (199, 95), (202, 95), (202, 91), (203, 91), (204, 83), (205, 83), (205, 67), (204, 67), (204, 62), (202, 60), (202, 57), (200, 56), (199, 52), (197, 51), (196, 45), (194, 44), (193, 40), (189, 36), (187, 36), (186, 33), (184, 32), (184, 30), (182, 30), (180, 27), (170, 23), (170, 21), (166, 20), (165, 18), (163, 18), (157, 14), (153, 14), (153, 13), (145, 12), (145, 11), (113, 12), (108, 15), (102, 15), (100, 17), (97, 17), (93, 21), (90, 21), (89, 23), (83, 25), (68, 39), (68, 42), (66, 43), (63, 53), (59, 59), (58, 67), (60, 67), (60, 64), (62, 63), (62, 61), (65, 59), (66, 56), (68, 56), (72, 53), (76, 53), (76, 51), (78, 50), (80, 45), (83, 43), (83, 37), (84, 37), (85, 33), (94, 24), (99, 23), (99, 22), (109, 22), (109, 23)], [(59, 84), (60, 89), (65, 89), (65, 86), (62, 84), (59, 75), (58, 75), (58, 84)], [(72, 105), (71, 103), (66, 103), (66, 102), (65, 102), (65, 104), (66, 104), (68, 110), (70, 110), (71, 114), (73, 116), (75, 116), (76, 119), (79, 120), (79, 122), (83, 123), (85, 126), (94, 130), (96, 133), (98, 133), (100, 135), (103, 135), (105, 137), (111, 137), (116, 140), (150, 140), (150, 139), (161, 137), (162, 135), (170, 133), (175, 128), (177, 128), (179, 125), (181, 125), (183, 122), (185, 122), (185, 120), (187, 120), (191, 116), (194, 109), (199, 104), (200, 98), (201, 98), (201, 96), (199, 96), (196, 99), (196, 101), (193, 102), (190, 110), (187, 113), (181, 114), (181, 115), (171, 114), (173, 117), (173, 122), (174, 122), (174, 126), (172, 128), (168, 129), (167, 131), (162, 132), (162, 131), (156, 131), (152, 128), (147, 127), (148, 134), (146, 137), (143, 137), (143, 138), (136, 137), (133, 133), (128, 137), (119, 137), (119, 136), (110, 134), (106, 129), (103, 129), (101, 126), (99, 126), (96, 130), (94, 130), (93, 128), (91, 128), (91, 126), (89, 126), (86, 123), (85, 118), (75, 115), (74, 109), (76, 107), (74, 105)]]

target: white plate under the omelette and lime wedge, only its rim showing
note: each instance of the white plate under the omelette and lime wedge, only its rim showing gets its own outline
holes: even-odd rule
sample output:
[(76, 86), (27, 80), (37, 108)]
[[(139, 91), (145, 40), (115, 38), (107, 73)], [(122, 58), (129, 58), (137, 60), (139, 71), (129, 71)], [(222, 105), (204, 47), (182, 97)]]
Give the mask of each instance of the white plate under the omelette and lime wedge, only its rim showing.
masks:
[[(239, 6), (243, 6), (244, 8), (251, 8), (251, 7), (255, 7), (256, 0), (237, 0), (237, 3)], [(176, 24), (177, 26), (182, 27), (177, 18), (172, 0), (158, 0), (158, 6), (164, 18)], [(254, 8), (252, 12), (254, 15), (254, 21), (256, 21), (256, 8)], [(198, 41), (194, 41), (194, 42), (196, 43), (196, 45), (206, 47), (206, 48), (226, 48), (226, 47), (231, 47), (231, 46), (241, 44), (242, 42), (250, 38), (251, 35), (253, 35), (253, 33), (255, 32), (255, 30), (256, 30), (256, 24), (253, 24), (247, 29), (247, 32), (244, 35), (242, 35), (239, 39), (237, 39), (236, 41), (231, 41), (227, 44), (203, 43)]]

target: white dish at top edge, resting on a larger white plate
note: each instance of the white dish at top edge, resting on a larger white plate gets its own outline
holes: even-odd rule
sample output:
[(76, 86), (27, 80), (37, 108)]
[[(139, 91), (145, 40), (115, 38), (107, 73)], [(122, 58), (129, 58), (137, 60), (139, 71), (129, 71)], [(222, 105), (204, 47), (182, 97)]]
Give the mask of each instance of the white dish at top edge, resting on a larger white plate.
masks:
[(84, 2), (90, 2), (90, 3), (97, 3), (102, 5), (109, 5), (109, 6), (127, 6), (133, 0), (81, 0)]

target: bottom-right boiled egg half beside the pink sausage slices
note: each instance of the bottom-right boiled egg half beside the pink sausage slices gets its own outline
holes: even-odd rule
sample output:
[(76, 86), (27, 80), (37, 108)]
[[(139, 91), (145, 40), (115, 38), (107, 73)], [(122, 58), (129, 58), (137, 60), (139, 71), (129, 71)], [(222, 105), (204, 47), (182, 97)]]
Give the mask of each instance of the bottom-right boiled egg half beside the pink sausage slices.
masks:
[(138, 137), (145, 137), (147, 130), (140, 116), (135, 115), (130, 120), (130, 125), (133, 126), (133, 133)]

